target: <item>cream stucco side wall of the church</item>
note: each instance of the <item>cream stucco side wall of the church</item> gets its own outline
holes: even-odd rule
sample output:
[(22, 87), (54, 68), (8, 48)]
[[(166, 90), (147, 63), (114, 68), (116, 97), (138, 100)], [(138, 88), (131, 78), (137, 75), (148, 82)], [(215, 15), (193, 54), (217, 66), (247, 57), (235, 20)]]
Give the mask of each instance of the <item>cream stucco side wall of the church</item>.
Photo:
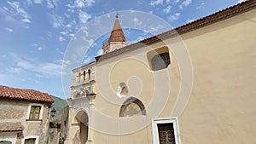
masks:
[[(93, 115), (89, 113), (93, 121), (90, 143), (151, 144), (152, 119), (172, 117), (178, 120), (183, 144), (256, 143), (255, 23), (253, 9), (97, 62), (95, 108)], [(171, 65), (151, 71), (148, 52), (165, 47)], [(182, 81), (182, 63), (177, 60), (183, 48), (191, 58), (193, 85), (185, 100), (189, 102), (177, 105), (177, 95), (183, 93), (180, 86), (186, 82)], [(126, 97), (116, 95), (119, 83), (128, 86)], [(146, 116), (119, 118), (121, 105), (131, 96), (143, 102)], [(72, 114), (70, 111), (70, 117)], [(69, 130), (75, 136), (78, 128)]]

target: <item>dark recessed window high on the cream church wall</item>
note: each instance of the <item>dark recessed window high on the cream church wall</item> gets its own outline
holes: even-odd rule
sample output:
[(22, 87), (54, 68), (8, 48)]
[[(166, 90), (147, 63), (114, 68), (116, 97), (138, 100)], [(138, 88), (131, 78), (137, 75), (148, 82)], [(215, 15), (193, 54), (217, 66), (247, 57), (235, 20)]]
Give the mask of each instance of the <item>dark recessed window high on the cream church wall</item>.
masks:
[(155, 55), (151, 60), (152, 70), (157, 71), (166, 68), (170, 65), (169, 53), (162, 53), (160, 55)]

